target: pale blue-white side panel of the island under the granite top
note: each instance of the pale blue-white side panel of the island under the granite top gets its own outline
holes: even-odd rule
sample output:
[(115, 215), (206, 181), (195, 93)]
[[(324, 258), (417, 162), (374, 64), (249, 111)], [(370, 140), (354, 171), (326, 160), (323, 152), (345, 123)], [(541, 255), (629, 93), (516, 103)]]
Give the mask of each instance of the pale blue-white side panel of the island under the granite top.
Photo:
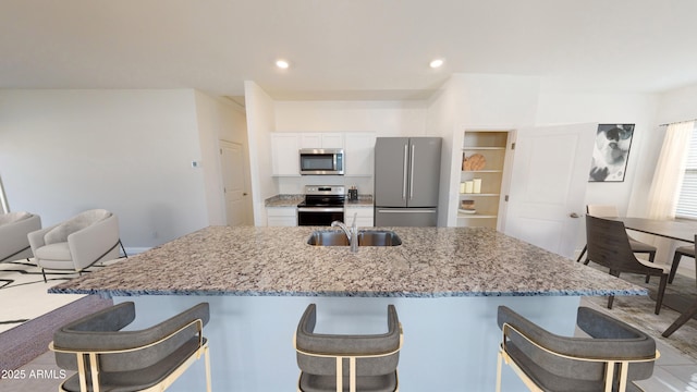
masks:
[[(209, 339), (213, 391), (295, 391), (298, 369), (293, 334), (301, 315), (317, 304), (317, 331), (387, 331), (387, 306), (396, 307), (404, 329), (400, 353), (400, 391), (493, 391), (501, 331), (499, 305), (506, 305), (559, 334), (572, 335), (578, 296), (500, 297), (295, 297), (152, 295), (114, 297), (134, 301), (137, 318), (130, 329), (151, 326), (199, 302), (210, 303)], [(503, 367), (505, 391), (526, 391)], [(463, 384), (464, 382), (464, 384)], [(170, 389), (205, 388), (204, 364), (195, 364)]]

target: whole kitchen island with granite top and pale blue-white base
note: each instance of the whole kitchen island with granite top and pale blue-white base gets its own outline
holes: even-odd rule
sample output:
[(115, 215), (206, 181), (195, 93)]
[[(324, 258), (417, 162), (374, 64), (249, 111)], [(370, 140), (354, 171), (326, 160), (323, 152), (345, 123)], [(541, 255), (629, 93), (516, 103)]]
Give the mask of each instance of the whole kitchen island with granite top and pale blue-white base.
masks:
[[(498, 305), (571, 334), (580, 296), (647, 294), (491, 229), (382, 229), (402, 245), (354, 254), (307, 244), (327, 228), (211, 226), (50, 292), (134, 301), (134, 328), (209, 302), (213, 389), (245, 392), (294, 390), (292, 336), (310, 303), (318, 305), (318, 330), (340, 333), (384, 331), (387, 305), (394, 304), (404, 328), (403, 392), (491, 391)], [(193, 370), (172, 390), (197, 389), (203, 369)], [(506, 390), (523, 390), (508, 376)]]

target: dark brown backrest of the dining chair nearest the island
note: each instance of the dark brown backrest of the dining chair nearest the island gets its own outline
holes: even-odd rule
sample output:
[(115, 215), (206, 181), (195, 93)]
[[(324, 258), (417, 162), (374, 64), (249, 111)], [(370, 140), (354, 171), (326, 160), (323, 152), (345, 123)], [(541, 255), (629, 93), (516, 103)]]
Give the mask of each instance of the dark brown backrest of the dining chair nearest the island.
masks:
[(645, 273), (647, 268), (651, 268), (636, 259), (626, 229), (621, 221), (587, 215), (586, 238), (588, 259), (610, 268), (611, 271)]

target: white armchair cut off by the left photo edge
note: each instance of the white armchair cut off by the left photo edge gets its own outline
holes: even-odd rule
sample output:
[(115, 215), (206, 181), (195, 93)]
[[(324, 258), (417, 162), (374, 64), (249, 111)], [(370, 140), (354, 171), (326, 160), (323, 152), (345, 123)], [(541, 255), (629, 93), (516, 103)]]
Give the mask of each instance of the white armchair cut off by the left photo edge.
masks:
[(41, 229), (41, 218), (29, 212), (0, 213), (0, 262), (32, 257), (27, 235)]

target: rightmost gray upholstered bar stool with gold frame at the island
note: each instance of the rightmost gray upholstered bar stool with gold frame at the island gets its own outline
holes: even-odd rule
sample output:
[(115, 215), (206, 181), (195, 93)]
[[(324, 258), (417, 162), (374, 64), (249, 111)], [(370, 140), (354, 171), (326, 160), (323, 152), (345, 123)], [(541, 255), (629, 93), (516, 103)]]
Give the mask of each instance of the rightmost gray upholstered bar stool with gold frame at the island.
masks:
[(624, 392), (650, 378), (659, 357), (652, 338), (587, 307), (578, 308), (576, 324), (590, 338), (550, 333), (505, 306), (499, 306), (498, 323), (497, 392), (503, 362), (530, 391)]

